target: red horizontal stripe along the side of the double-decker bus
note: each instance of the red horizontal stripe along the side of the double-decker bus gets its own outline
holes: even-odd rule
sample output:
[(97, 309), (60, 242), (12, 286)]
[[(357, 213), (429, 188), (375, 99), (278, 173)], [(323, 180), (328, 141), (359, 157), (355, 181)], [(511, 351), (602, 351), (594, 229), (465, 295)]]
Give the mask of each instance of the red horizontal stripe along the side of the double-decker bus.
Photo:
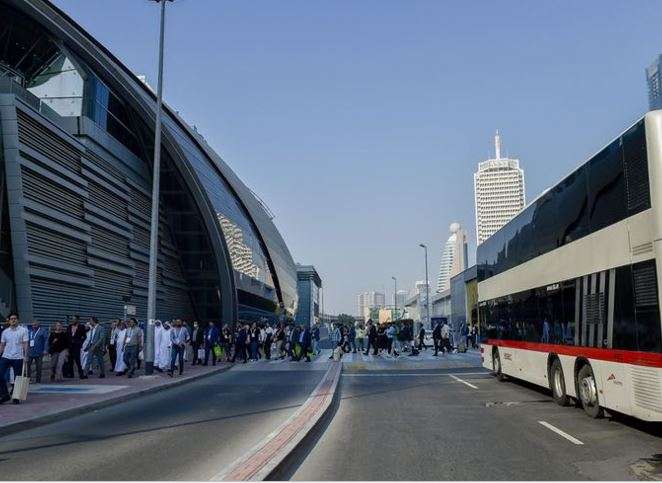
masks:
[(662, 367), (662, 353), (638, 352), (618, 349), (600, 349), (597, 347), (576, 347), (560, 344), (543, 344), (541, 342), (524, 342), (520, 340), (488, 339), (488, 345), (526, 349), (537, 352), (554, 352), (566, 356), (586, 357), (601, 361), (622, 362), (636, 366)]

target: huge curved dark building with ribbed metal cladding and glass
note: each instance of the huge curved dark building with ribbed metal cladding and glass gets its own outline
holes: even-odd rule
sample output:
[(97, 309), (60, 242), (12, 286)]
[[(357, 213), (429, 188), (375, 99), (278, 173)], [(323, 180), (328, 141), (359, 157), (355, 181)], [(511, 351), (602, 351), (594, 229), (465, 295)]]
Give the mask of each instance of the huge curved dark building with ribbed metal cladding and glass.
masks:
[[(156, 100), (45, 0), (0, 0), (0, 313), (146, 316)], [(296, 267), (260, 200), (163, 111), (157, 318), (293, 317)]]

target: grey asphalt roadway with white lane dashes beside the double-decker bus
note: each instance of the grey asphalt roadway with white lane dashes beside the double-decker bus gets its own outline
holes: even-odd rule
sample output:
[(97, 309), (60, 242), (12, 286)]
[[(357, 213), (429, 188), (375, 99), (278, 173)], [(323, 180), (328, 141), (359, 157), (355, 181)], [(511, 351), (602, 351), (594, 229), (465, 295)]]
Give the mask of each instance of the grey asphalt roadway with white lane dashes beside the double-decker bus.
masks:
[(659, 425), (592, 420), (480, 368), (406, 372), (344, 374), (337, 412), (292, 478), (662, 479)]

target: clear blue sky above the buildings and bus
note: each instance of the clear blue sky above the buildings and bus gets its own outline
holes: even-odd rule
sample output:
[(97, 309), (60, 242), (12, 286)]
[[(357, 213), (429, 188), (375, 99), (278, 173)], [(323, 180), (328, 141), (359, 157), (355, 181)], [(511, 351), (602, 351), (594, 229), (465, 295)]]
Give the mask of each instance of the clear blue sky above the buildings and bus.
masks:
[[(158, 8), (55, 0), (156, 85)], [(424, 280), (451, 222), (475, 259), (473, 172), (520, 159), (527, 200), (647, 109), (657, 0), (176, 0), (164, 98), (267, 203), (324, 310)]]

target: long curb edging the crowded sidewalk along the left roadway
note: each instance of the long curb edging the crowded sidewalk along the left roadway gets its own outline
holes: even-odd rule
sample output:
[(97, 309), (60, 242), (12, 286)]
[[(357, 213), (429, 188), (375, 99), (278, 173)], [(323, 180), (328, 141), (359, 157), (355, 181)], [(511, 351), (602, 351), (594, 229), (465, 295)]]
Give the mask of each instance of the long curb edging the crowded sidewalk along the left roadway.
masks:
[(172, 382), (162, 384), (160, 386), (148, 387), (140, 391), (132, 392), (129, 394), (122, 394), (121, 396), (111, 397), (103, 401), (97, 401), (90, 404), (85, 404), (83, 406), (76, 406), (70, 409), (65, 409), (64, 411), (59, 411), (57, 413), (45, 414), (43, 416), (37, 416), (36, 418), (25, 419), (23, 421), (16, 421), (15, 423), (0, 426), (0, 436), (7, 436), (19, 431), (25, 431), (26, 429), (33, 429), (49, 423), (61, 421), (62, 419), (70, 418), (73, 416), (80, 416), (81, 414), (89, 413), (108, 406), (113, 406), (115, 404), (120, 404), (132, 399), (137, 399), (142, 396), (147, 396), (164, 389), (172, 389), (173, 387), (182, 386), (184, 384), (188, 384), (189, 382), (194, 382), (205, 377), (221, 374), (230, 370), (232, 367), (233, 365), (221, 367), (216, 370), (205, 372), (203, 374), (196, 374), (195, 376), (191, 376), (185, 379), (174, 379)]

